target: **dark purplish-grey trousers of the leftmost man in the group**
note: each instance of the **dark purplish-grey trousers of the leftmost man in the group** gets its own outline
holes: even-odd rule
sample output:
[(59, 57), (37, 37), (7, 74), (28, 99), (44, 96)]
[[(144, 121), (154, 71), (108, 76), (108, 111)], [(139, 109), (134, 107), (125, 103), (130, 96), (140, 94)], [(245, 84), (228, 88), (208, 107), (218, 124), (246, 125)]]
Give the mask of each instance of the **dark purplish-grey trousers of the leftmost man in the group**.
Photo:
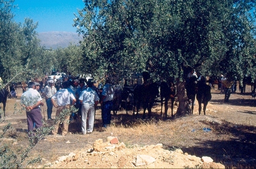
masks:
[(28, 131), (33, 131), (33, 124), (35, 123), (35, 128), (42, 126), (42, 115), (40, 108), (34, 108), (31, 111), (26, 111)]

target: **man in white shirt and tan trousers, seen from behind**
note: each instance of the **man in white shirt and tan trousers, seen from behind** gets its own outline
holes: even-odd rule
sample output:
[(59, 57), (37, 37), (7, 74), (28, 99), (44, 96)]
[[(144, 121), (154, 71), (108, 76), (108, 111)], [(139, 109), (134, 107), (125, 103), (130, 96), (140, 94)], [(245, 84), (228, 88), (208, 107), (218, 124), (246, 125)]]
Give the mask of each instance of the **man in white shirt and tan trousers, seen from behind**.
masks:
[[(60, 89), (58, 92), (56, 92), (56, 94), (54, 94), (51, 98), (52, 104), (54, 105), (55, 108), (57, 108), (56, 119), (61, 116), (60, 113), (63, 109), (70, 110), (70, 101), (71, 100), (72, 100), (71, 105), (74, 105), (76, 102), (75, 96), (71, 92), (69, 92), (67, 88), (69, 88), (69, 82), (65, 81), (62, 83), (62, 89)], [(56, 100), (57, 104), (55, 103), (55, 100)], [(62, 128), (62, 134), (61, 134), (62, 136), (65, 136), (68, 133), (69, 119), (70, 119), (70, 114), (66, 115), (65, 119), (63, 121), (63, 128)], [(54, 129), (52, 130), (53, 135), (57, 134), (59, 124), (60, 124), (60, 119), (58, 119), (58, 122), (54, 125)]]

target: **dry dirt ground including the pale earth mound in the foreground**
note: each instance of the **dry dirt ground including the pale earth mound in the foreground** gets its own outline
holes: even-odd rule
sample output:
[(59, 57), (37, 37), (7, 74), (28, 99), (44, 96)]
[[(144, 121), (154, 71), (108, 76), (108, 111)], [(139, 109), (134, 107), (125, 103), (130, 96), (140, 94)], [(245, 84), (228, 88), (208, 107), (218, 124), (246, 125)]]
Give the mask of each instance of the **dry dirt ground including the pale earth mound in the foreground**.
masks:
[[(254, 168), (256, 166), (256, 101), (251, 98), (250, 87), (247, 87), (245, 94), (240, 94), (238, 90), (237, 93), (231, 94), (227, 103), (224, 103), (224, 95), (220, 94), (219, 90), (211, 90), (211, 93), (212, 99), (207, 106), (206, 116), (198, 115), (198, 103), (196, 102), (194, 115), (173, 119), (170, 118), (169, 109), (168, 119), (164, 119), (160, 117), (161, 106), (156, 103), (153, 108), (153, 120), (142, 121), (141, 114), (138, 119), (134, 118), (132, 110), (129, 111), (128, 115), (124, 111), (119, 111), (117, 116), (112, 116), (112, 125), (108, 128), (102, 128), (101, 111), (98, 107), (92, 134), (81, 135), (80, 121), (73, 121), (69, 126), (70, 132), (65, 137), (49, 135), (36, 145), (30, 153), (30, 157), (40, 155), (43, 160), (41, 163), (28, 167), (210, 167), (200, 163), (200, 160), (197, 161), (198, 159), (188, 160), (190, 162), (197, 161), (195, 164), (179, 161), (175, 158), (177, 155), (172, 153), (180, 149), (183, 153), (178, 152), (186, 155), (186, 158), (190, 155), (200, 158), (208, 156), (214, 162), (221, 163), (226, 168)], [(18, 89), (18, 94), (20, 96), (20, 89)], [(19, 105), (19, 97), (8, 99), (7, 116), (12, 114), (15, 102)], [(177, 106), (175, 106), (175, 112), (176, 109)], [(53, 109), (53, 115), (55, 115), (55, 112), (56, 109)], [(42, 109), (42, 114), (43, 117), (47, 116), (46, 105)], [(19, 136), (22, 137), (15, 138), (15, 145), (26, 147), (28, 141), (25, 133), (27, 129), (25, 112), (7, 118), (7, 122), (1, 123), (0, 128), (2, 129), (9, 122), (13, 126), (12, 132), (19, 132)], [(205, 132), (204, 128), (210, 131)], [(109, 136), (117, 137), (122, 144), (119, 144), (116, 148), (111, 148), (112, 145), (104, 145), (108, 142), (107, 138)], [(109, 148), (92, 153), (91, 150), (95, 149), (94, 146), (99, 142), (102, 146)], [(159, 146), (159, 144), (161, 145)], [(117, 149), (118, 151), (111, 149)], [(150, 155), (157, 160), (154, 164), (135, 166), (132, 161), (136, 159), (139, 153)], [(59, 162), (59, 157), (67, 155), (70, 156)], [(179, 159), (181, 158), (183, 157)]]

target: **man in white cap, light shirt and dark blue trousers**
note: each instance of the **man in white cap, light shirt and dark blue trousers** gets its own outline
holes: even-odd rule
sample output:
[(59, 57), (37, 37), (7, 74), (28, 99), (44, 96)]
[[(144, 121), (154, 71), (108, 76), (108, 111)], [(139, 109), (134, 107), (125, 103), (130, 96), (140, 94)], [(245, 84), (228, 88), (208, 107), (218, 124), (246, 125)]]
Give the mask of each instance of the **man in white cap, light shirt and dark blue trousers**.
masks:
[(53, 104), (51, 101), (52, 96), (57, 92), (56, 88), (54, 87), (54, 80), (50, 79), (48, 81), (48, 86), (42, 90), (42, 96), (46, 98), (46, 105), (47, 105), (47, 119), (52, 119), (52, 108)]

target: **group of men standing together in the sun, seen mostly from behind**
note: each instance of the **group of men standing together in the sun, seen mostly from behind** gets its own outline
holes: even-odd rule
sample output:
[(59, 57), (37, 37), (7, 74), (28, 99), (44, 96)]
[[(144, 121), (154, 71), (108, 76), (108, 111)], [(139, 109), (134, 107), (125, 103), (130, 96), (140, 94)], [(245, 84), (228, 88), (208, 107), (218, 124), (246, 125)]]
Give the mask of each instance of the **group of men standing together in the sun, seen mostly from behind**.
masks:
[[(81, 120), (81, 134), (90, 134), (94, 129), (96, 106), (100, 102), (102, 127), (108, 127), (111, 121), (114, 91), (110, 79), (105, 79), (105, 85), (94, 86), (94, 81), (86, 79), (69, 79), (63, 77), (61, 83), (54, 83), (54, 79), (46, 78), (38, 82), (33, 81), (22, 84), (23, 94), (20, 104), (26, 109), (28, 132), (42, 126), (41, 107), (45, 99), (47, 105), (47, 120), (52, 121), (53, 107), (56, 108), (55, 124), (52, 135), (56, 135), (61, 129), (61, 135), (68, 133), (69, 123), (73, 120)], [(27, 89), (28, 88), (28, 89)], [(71, 106), (78, 112), (71, 112)], [(61, 115), (61, 112), (68, 112)], [(61, 116), (62, 121), (60, 120)], [(57, 119), (57, 120), (56, 120)], [(46, 120), (46, 119), (45, 119)], [(62, 122), (62, 126), (61, 125)]]

